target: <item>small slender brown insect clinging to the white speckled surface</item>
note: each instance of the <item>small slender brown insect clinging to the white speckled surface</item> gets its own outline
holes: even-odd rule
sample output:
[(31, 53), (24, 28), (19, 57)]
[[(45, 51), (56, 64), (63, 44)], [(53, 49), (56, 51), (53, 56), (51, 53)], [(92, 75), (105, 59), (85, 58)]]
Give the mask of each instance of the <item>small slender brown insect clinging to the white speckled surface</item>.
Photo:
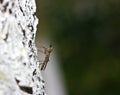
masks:
[(53, 51), (53, 47), (52, 47), (52, 45), (49, 45), (48, 48), (46, 48), (44, 46), (41, 47), (41, 48), (44, 49), (43, 53), (45, 54), (45, 57), (44, 57), (44, 60), (43, 60), (42, 64), (40, 64), (40, 69), (41, 70), (45, 70), (45, 68), (47, 66), (47, 63), (49, 61), (50, 54)]

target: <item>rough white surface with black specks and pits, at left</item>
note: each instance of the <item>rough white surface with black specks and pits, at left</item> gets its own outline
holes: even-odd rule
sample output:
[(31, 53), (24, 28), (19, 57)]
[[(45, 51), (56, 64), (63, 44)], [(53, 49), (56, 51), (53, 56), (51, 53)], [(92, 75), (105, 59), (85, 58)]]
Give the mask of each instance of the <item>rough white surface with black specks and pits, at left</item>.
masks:
[(45, 95), (35, 0), (0, 0), (0, 95)]

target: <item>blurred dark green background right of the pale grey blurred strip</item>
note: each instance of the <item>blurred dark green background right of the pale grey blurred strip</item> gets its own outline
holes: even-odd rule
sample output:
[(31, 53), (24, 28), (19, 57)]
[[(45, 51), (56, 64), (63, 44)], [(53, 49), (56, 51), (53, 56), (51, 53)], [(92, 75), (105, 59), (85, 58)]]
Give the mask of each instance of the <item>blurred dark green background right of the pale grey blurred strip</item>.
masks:
[(37, 39), (57, 49), (68, 95), (120, 95), (120, 0), (36, 0)]

